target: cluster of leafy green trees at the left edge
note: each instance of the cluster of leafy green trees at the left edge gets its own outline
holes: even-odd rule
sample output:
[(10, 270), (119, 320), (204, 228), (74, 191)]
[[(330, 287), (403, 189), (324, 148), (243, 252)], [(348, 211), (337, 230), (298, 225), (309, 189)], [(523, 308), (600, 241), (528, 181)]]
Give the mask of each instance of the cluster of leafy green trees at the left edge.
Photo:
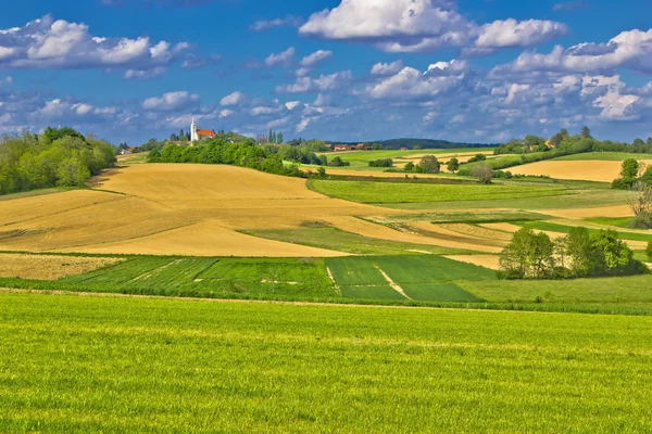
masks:
[(50, 187), (83, 187), (115, 164), (110, 143), (63, 127), (42, 135), (24, 132), (0, 139), (0, 194)]

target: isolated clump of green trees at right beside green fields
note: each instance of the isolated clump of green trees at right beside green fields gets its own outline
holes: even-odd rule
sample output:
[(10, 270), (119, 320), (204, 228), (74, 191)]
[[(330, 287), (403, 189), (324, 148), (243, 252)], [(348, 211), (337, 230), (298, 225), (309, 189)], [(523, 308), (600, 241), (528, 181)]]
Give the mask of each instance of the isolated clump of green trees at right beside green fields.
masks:
[(574, 279), (649, 273), (615, 231), (573, 228), (552, 241), (523, 228), (500, 255), (501, 279)]

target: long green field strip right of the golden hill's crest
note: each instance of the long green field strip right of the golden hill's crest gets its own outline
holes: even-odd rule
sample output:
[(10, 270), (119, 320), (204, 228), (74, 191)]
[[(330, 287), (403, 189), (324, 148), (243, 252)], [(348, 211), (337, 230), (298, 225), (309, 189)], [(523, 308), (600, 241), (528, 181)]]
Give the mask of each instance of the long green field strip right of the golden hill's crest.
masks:
[(378, 204), (514, 200), (568, 194), (568, 190), (563, 187), (402, 184), (394, 182), (331, 181), (318, 179), (312, 179), (309, 183), (315, 191), (331, 197)]

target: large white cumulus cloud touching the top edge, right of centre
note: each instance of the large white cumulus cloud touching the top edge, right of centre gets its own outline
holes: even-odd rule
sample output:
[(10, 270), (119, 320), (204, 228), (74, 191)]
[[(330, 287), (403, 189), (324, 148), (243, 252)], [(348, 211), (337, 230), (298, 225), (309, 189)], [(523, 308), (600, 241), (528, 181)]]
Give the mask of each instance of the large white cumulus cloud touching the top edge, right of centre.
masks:
[(451, 0), (341, 0), (338, 7), (311, 15), (299, 28), (302, 36), (369, 42), (388, 52), (460, 47), (473, 55), (497, 48), (530, 47), (566, 31), (563, 24), (539, 20), (478, 25), (460, 14)]

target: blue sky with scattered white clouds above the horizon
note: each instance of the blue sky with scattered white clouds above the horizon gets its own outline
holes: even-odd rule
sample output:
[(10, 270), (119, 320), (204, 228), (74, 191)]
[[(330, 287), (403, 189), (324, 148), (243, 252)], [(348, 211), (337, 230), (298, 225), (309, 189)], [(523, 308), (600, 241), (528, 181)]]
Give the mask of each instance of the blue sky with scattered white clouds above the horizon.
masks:
[(649, 0), (0, 3), (0, 132), (652, 136)]

